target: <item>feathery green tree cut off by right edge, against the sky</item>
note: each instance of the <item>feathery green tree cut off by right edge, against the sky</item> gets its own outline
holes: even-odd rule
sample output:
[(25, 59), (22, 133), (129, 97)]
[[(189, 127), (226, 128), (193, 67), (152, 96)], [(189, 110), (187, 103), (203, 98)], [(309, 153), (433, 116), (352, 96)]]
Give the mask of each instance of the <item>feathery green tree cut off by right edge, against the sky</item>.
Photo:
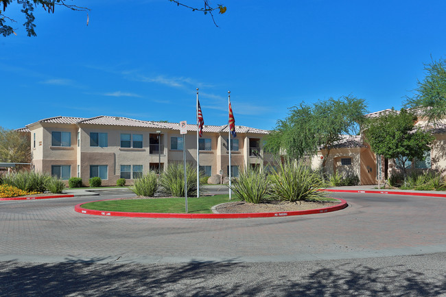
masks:
[(446, 118), (446, 59), (424, 64), (425, 78), (418, 81), (415, 95), (406, 107), (419, 110), (431, 122)]

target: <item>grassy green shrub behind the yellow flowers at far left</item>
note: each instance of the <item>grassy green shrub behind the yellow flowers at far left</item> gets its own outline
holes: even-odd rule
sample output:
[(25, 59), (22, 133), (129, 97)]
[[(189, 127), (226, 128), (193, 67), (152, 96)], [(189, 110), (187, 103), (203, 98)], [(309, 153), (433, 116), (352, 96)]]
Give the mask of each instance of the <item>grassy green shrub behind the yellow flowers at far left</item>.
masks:
[(45, 182), (51, 178), (48, 174), (34, 171), (21, 171), (3, 177), (3, 184), (11, 185), (23, 191), (45, 191)]

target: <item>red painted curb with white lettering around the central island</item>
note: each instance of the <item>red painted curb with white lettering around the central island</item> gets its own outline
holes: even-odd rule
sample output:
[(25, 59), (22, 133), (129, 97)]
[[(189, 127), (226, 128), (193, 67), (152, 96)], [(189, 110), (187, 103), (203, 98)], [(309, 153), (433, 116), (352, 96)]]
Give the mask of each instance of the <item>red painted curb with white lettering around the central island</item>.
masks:
[[(86, 215), (106, 215), (110, 217), (151, 217), (173, 219), (245, 219), (249, 217), (289, 217), (290, 215), (311, 215), (314, 213), (330, 213), (347, 207), (347, 201), (340, 200), (340, 204), (324, 207), (322, 209), (309, 209), (307, 211), (281, 211), (277, 213), (126, 213), (122, 211), (94, 211), (82, 208), (84, 202), (74, 206), (74, 211)], [(104, 200), (97, 200), (104, 201)], [(92, 202), (97, 202), (92, 201)]]

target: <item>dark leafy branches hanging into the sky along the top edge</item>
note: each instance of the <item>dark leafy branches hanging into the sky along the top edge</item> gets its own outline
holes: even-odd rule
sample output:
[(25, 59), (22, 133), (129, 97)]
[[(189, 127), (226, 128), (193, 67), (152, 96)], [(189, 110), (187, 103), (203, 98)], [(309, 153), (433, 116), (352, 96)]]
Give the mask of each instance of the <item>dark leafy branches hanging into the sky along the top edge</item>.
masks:
[[(222, 4), (211, 5), (209, 0), (203, 0), (204, 6), (202, 8), (198, 8), (196, 6), (186, 5), (180, 1), (176, 0), (168, 0), (170, 2), (176, 3), (178, 6), (183, 6), (185, 8), (189, 8), (192, 11), (200, 11), (204, 12), (204, 14), (209, 14), (212, 18), (215, 26), (218, 27), (217, 23), (215, 23), (215, 19), (213, 16), (213, 12), (218, 11), (219, 14), (224, 14), (226, 12), (226, 6)], [(40, 8), (48, 13), (54, 13), (56, 6), (62, 6), (64, 8), (69, 8), (70, 10), (80, 11), (80, 12), (88, 12), (90, 9), (85, 8), (78, 5), (69, 4), (68, 0), (0, 0), (0, 34), (3, 36), (10, 36), (11, 34), (17, 35), (17, 28), (14, 29), (12, 25), (17, 23), (16, 20), (10, 18), (5, 14), (7, 8), (11, 5), (21, 5), (21, 12), (25, 16), (25, 23), (23, 26), (26, 29), (27, 36), (36, 36), (36, 17), (33, 12), (34, 9)], [(89, 24), (89, 15), (87, 14), (86, 24)]]

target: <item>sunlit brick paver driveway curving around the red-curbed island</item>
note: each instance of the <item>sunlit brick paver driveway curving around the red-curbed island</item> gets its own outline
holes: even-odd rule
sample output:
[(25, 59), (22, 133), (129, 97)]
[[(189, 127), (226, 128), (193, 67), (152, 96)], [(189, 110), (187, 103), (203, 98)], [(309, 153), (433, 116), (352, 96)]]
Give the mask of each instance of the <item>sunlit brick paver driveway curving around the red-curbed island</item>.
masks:
[[(121, 197), (106, 193), (99, 198)], [(130, 194), (126, 194), (127, 196)], [(261, 219), (82, 215), (90, 198), (0, 204), (0, 259), (23, 261), (300, 261), (446, 251), (446, 199), (333, 193), (335, 213)]]

